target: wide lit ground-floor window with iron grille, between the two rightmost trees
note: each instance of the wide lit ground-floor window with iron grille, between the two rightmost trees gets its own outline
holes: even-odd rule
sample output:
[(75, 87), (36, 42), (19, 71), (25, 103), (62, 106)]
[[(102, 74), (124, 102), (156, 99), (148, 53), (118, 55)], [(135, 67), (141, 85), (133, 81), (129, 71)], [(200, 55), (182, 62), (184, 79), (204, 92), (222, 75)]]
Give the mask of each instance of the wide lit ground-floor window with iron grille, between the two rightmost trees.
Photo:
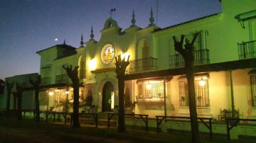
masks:
[[(166, 96), (168, 95), (168, 84), (165, 83)], [(164, 98), (164, 84), (158, 83), (146, 83), (138, 84), (139, 96), (138, 98)]]

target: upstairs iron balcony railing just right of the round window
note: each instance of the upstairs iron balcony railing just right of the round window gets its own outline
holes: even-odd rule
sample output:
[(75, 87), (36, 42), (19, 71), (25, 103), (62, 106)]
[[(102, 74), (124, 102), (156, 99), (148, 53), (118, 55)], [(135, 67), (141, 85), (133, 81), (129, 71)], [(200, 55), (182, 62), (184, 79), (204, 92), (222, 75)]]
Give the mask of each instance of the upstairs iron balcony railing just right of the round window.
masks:
[(129, 71), (141, 72), (141, 71), (153, 71), (157, 70), (157, 59), (148, 57), (138, 60), (130, 61)]

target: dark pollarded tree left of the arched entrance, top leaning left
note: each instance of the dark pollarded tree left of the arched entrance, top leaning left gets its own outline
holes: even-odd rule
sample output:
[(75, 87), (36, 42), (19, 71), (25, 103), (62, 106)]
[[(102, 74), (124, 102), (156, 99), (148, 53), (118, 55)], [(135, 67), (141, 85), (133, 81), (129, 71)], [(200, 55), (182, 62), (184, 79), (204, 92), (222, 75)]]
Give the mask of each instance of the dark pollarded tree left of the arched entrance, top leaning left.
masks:
[(76, 66), (74, 70), (72, 70), (72, 65), (70, 66), (62, 66), (63, 69), (66, 70), (69, 78), (72, 80), (73, 84), (73, 92), (74, 92), (74, 102), (73, 102), (73, 127), (80, 127), (79, 124), (79, 78), (78, 78), (78, 67)]

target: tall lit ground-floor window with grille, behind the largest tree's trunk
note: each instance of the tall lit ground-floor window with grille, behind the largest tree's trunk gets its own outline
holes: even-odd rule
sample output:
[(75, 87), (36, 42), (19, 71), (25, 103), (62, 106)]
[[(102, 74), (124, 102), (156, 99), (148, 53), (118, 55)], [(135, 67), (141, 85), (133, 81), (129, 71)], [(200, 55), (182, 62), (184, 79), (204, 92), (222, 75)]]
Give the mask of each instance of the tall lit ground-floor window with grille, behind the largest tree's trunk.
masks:
[[(198, 107), (208, 107), (210, 106), (208, 80), (204, 79), (203, 86), (199, 82), (200, 80), (195, 80), (196, 104)], [(187, 81), (179, 81), (179, 97), (180, 106), (188, 106)]]

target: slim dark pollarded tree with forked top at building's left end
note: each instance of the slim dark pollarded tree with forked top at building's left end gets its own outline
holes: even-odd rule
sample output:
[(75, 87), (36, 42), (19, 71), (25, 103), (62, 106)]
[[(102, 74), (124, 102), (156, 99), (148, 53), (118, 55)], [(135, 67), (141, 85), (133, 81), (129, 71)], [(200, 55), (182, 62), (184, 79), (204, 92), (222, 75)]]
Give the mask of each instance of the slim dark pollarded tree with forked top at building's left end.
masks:
[(36, 122), (40, 122), (40, 111), (39, 111), (39, 85), (41, 83), (41, 76), (37, 75), (37, 80), (33, 81), (30, 77), (29, 77), (29, 83), (31, 85), (33, 85), (34, 89), (35, 89), (35, 111), (36, 111)]

